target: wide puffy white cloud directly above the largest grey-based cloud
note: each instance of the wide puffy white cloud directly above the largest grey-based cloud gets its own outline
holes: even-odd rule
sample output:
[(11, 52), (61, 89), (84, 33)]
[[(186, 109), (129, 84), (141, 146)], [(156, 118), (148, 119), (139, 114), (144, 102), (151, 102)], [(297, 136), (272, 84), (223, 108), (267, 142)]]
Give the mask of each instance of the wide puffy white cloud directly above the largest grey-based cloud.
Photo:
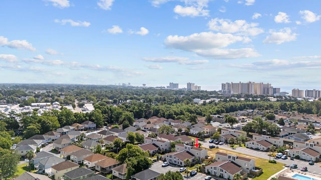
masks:
[(255, 36), (258, 35), (264, 30), (257, 27), (258, 23), (248, 23), (246, 20), (235, 20), (231, 21), (230, 19), (211, 19), (208, 23), (209, 29), (215, 31), (222, 31), (228, 33), (242, 33), (246, 35)]

